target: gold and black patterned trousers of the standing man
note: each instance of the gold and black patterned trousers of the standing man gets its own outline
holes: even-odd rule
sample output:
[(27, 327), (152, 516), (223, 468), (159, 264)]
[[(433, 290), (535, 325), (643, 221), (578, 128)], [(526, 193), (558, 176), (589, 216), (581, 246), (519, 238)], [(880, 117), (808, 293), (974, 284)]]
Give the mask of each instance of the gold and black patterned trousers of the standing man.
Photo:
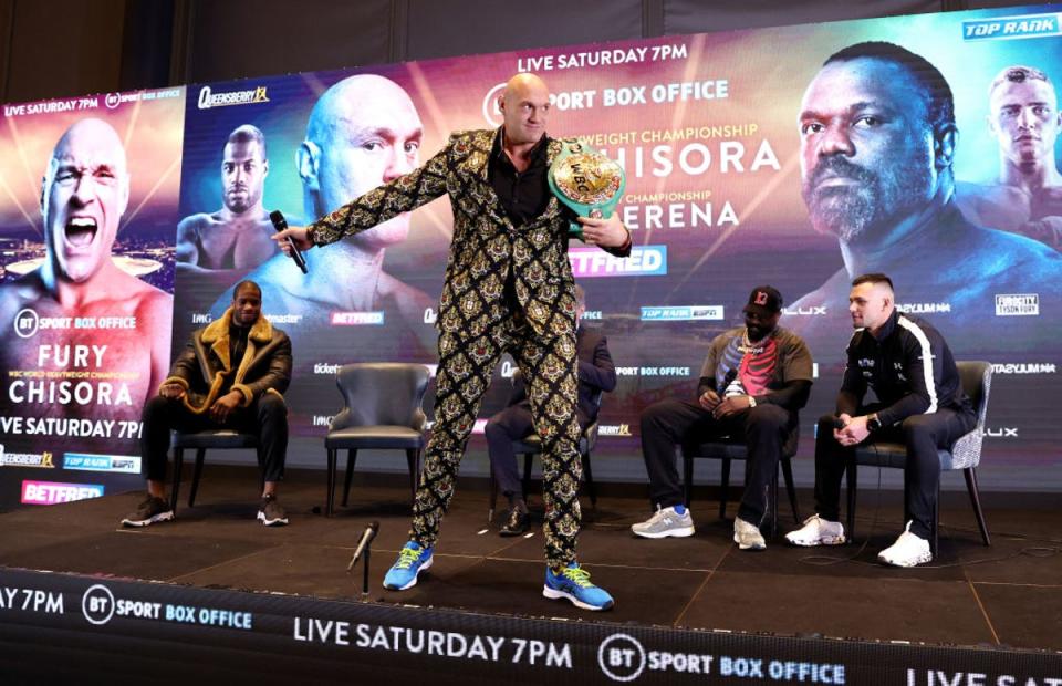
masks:
[(482, 335), (446, 331), (439, 335), (435, 426), (425, 450), (409, 538), (421, 545), (434, 545), (438, 539), (480, 401), (499, 358), (508, 352), (527, 381), (534, 430), (542, 439), (545, 560), (553, 568), (564, 567), (575, 560), (581, 518), (575, 333), (542, 336), (527, 325), (511, 301), (496, 308)]

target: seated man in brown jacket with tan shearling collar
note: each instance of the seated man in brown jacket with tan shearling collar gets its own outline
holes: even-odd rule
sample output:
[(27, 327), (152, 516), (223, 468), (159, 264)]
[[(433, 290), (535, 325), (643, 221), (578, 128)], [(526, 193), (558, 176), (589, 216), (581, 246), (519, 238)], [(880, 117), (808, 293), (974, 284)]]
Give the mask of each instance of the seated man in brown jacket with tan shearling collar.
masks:
[(291, 341), (262, 316), (262, 290), (237, 284), (225, 315), (191, 334), (158, 395), (144, 406), (140, 454), (147, 470), (147, 499), (122, 520), (146, 527), (174, 518), (166, 500), (169, 433), (229, 428), (256, 434), (264, 476), (258, 519), (267, 527), (288, 523), (277, 502), (277, 482), (288, 453), (288, 407), (281, 395), (291, 382)]

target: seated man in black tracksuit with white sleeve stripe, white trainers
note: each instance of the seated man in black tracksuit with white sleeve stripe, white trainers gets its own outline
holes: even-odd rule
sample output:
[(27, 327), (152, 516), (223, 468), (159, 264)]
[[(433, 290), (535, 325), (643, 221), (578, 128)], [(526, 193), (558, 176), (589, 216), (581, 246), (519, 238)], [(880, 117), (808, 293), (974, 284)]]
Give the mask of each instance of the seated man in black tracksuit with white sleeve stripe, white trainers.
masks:
[[(796, 545), (843, 543), (839, 501), (850, 451), (864, 441), (898, 441), (907, 446), (904, 488), (912, 519), (878, 560), (914, 567), (933, 559), (937, 449), (950, 448), (975, 427), (977, 417), (944, 337), (920, 319), (897, 312), (894, 298), (885, 274), (864, 274), (852, 282), (848, 311), (856, 331), (848, 343), (837, 413), (819, 419), (815, 440), (816, 513), (785, 538)], [(867, 389), (877, 403), (864, 405)]]

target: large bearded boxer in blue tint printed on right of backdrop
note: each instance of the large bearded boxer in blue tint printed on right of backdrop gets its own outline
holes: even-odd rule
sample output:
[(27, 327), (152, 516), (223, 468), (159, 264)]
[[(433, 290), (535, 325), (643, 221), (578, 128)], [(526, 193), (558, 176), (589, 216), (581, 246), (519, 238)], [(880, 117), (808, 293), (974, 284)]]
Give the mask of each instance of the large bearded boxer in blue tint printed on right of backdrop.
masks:
[[(969, 222), (955, 196), (958, 129), (951, 90), (925, 59), (860, 43), (830, 59), (799, 116), (803, 197), (815, 230), (836, 236), (844, 266), (793, 304), (813, 351), (848, 325), (852, 278), (887, 272), (920, 302), (946, 303), (940, 329), (959, 352), (1056, 346), (1062, 257), (1037, 241)], [(991, 325), (998, 295), (1035, 294), (1041, 316)], [(825, 311), (825, 314), (821, 312)], [(1042, 319), (1041, 319), (1042, 318)], [(1020, 321), (1019, 321), (1020, 320)]]

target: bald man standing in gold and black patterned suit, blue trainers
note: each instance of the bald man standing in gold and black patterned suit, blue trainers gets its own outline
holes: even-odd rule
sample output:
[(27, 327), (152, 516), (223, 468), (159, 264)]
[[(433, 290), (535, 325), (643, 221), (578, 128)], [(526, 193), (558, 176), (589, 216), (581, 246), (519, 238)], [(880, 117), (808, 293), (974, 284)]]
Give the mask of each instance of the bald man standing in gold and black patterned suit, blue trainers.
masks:
[[(542, 438), (545, 522), (543, 595), (586, 610), (614, 601), (575, 561), (579, 396), (575, 283), (568, 261), (569, 221), (551, 197), (549, 167), (564, 142), (545, 134), (550, 92), (533, 74), (518, 74), (499, 96), (503, 124), (458, 132), (420, 168), (372, 190), (309, 227), (275, 235), (303, 250), (367, 230), (447, 194), (454, 239), (439, 299), (439, 367), (435, 427), (413, 509), (410, 540), (384, 579), (405, 590), (433, 562), (483, 392), (503, 352), (528, 380), (535, 432)], [(580, 218), (584, 240), (620, 257), (631, 233), (617, 215)], [(285, 252), (287, 241), (281, 242)]]

